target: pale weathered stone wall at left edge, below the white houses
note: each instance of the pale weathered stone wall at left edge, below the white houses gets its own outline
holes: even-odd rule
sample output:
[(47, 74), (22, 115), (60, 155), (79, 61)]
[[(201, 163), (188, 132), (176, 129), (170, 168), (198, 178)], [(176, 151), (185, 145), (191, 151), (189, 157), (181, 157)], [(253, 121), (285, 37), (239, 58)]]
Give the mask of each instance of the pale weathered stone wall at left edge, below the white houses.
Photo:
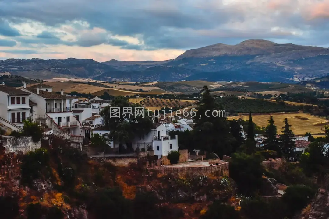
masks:
[(32, 136), (12, 137), (1, 136), (2, 146), (5, 148), (6, 153), (28, 153), (41, 147), (41, 141), (33, 142)]

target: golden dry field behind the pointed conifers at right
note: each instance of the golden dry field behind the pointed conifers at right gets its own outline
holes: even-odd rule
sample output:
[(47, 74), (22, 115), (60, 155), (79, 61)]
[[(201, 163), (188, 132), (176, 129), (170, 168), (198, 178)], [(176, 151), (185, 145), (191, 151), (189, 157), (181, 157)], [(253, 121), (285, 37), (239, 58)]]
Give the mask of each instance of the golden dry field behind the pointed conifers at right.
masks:
[[(268, 114), (268, 115), (253, 115), (252, 120), (259, 126), (265, 127), (268, 124), (269, 116), (272, 115), (275, 125), (278, 129), (278, 134), (281, 132), (281, 128), (284, 125), (283, 120), (285, 118), (288, 119), (289, 124), (291, 125), (291, 130), (295, 133), (295, 135), (304, 135), (306, 132), (311, 132), (312, 134), (320, 134), (322, 133), (321, 128), (322, 124), (326, 124), (329, 122), (326, 119), (312, 116), (306, 113), (283, 113), (283, 114)], [(308, 120), (301, 120), (296, 118), (296, 115), (300, 118), (307, 118)], [(229, 120), (232, 119), (243, 119), (248, 120), (248, 115), (240, 115), (235, 117), (228, 117)], [(323, 133), (322, 133), (323, 134)]]

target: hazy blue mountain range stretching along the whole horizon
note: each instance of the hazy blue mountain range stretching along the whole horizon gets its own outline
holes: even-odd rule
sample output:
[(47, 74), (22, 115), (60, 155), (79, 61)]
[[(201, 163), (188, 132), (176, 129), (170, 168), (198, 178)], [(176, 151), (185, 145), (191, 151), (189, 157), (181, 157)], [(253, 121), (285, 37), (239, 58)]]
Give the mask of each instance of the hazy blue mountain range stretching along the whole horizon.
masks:
[(262, 81), (292, 82), (329, 73), (329, 49), (277, 44), (262, 39), (237, 45), (214, 44), (191, 49), (164, 61), (97, 62), (93, 59), (0, 60), (0, 73), (49, 79), (83, 77), (121, 81)]

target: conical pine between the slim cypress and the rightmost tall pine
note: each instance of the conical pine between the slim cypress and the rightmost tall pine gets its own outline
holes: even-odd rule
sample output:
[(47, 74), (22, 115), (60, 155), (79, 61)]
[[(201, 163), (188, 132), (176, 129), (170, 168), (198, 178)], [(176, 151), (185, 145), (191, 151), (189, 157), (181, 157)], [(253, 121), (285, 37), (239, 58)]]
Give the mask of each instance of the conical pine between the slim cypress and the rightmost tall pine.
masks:
[(278, 138), (276, 137), (276, 126), (274, 125), (273, 117), (270, 116), (268, 120), (268, 125), (265, 128), (265, 134), (264, 137), (266, 139), (263, 141), (264, 147), (267, 150), (274, 150), (278, 154), (281, 154)]

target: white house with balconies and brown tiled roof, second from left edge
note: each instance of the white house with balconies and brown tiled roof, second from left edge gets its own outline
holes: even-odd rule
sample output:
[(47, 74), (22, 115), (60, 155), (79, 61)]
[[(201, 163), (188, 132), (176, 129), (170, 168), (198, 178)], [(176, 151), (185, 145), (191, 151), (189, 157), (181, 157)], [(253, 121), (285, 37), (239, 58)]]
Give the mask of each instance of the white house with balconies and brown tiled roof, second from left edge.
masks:
[[(73, 97), (52, 93), (49, 90), (40, 90), (37, 88), (24, 87), (22, 91), (30, 93), (30, 99), (37, 104), (33, 106), (33, 119), (41, 121), (49, 128), (63, 130), (70, 135), (85, 136), (81, 123), (73, 116), (71, 105)], [(51, 122), (49, 122), (49, 120)]]

